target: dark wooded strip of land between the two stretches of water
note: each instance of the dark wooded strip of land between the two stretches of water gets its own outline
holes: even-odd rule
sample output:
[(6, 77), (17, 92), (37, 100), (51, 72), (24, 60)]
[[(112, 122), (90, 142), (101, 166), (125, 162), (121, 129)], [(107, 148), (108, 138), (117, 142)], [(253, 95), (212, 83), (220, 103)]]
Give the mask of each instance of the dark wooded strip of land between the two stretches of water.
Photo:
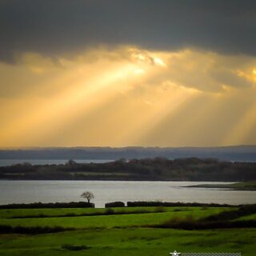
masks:
[(0, 167), (0, 178), (11, 180), (145, 180), (145, 181), (254, 181), (256, 163), (222, 162), (214, 158), (119, 159), (106, 163), (35, 165), (29, 162)]

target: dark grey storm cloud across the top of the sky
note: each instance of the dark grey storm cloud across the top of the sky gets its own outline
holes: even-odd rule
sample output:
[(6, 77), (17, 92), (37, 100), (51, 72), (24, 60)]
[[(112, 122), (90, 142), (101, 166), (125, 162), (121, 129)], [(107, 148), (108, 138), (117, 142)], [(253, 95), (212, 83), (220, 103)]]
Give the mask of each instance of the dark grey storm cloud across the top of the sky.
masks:
[(0, 0), (0, 58), (133, 44), (256, 54), (252, 0)]

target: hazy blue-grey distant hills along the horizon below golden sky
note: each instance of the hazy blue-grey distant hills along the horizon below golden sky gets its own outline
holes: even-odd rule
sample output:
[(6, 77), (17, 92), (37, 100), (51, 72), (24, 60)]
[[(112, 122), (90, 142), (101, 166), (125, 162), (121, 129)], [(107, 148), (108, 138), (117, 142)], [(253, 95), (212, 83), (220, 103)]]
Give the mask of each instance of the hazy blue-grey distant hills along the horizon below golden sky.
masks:
[(120, 158), (218, 158), (225, 161), (255, 162), (256, 146), (221, 147), (48, 147), (0, 150), (0, 159), (108, 159)]

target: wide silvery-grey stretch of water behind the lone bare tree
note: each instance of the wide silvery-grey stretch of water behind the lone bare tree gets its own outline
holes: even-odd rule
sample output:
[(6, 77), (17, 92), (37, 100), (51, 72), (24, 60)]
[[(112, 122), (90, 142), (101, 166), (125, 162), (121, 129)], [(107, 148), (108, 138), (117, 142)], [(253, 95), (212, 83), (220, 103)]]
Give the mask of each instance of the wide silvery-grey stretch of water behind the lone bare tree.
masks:
[(162, 201), (249, 204), (256, 191), (188, 188), (198, 184), (230, 182), (125, 182), (125, 181), (0, 181), (0, 204), (22, 202), (78, 202), (85, 191), (94, 193), (95, 207), (114, 201)]

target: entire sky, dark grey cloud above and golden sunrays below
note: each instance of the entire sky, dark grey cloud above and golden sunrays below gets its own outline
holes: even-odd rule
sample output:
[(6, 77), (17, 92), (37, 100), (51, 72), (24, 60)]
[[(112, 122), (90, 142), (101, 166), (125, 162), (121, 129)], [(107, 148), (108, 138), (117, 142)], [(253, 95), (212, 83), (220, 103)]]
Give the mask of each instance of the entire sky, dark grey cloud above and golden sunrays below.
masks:
[(0, 147), (256, 144), (254, 0), (0, 0)]

